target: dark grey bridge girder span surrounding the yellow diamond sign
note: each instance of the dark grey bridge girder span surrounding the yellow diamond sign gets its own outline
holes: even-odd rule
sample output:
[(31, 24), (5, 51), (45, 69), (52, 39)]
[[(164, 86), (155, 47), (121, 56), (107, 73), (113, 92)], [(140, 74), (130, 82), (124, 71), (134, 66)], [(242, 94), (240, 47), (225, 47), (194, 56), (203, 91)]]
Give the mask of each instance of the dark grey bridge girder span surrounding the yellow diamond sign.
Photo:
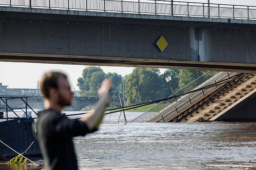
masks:
[(256, 72), (255, 20), (15, 7), (0, 19), (0, 61)]

